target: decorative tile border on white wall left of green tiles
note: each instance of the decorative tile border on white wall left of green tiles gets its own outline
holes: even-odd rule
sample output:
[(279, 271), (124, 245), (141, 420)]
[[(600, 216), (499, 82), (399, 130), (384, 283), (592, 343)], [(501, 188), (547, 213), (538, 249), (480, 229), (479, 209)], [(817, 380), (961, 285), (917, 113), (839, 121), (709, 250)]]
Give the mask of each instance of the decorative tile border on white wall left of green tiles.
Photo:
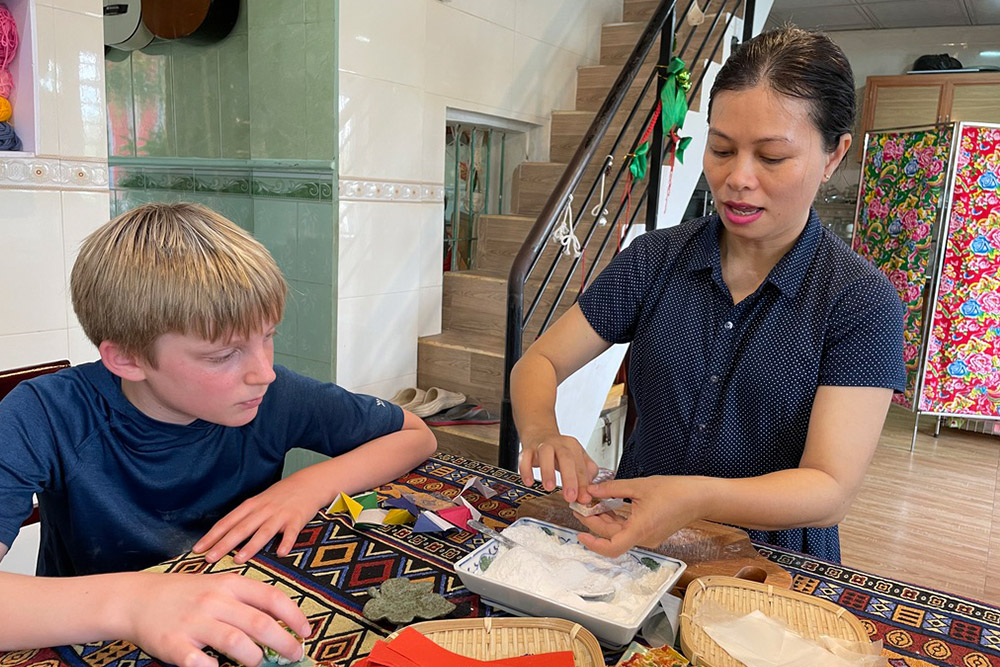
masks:
[(108, 164), (103, 160), (5, 157), (0, 154), (0, 188), (105, 191), (108, 189)]

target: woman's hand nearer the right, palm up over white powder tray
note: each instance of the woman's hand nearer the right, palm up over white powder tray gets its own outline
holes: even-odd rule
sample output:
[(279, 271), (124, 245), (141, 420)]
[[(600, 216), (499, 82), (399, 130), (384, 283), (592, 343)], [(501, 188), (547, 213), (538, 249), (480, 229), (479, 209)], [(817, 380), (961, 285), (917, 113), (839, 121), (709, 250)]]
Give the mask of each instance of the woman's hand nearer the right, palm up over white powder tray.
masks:
[(697, 478), (641, 477), (616, 479), (591, 486), (595, 499), (627, 498), (632, 501), (628, 517), (614, 512), (594, 516), (576, 515), (589, 533), (580, 533), (580, 544), (614, 558), (636, 545), (656, 547), (684, 526), (704, 516)]

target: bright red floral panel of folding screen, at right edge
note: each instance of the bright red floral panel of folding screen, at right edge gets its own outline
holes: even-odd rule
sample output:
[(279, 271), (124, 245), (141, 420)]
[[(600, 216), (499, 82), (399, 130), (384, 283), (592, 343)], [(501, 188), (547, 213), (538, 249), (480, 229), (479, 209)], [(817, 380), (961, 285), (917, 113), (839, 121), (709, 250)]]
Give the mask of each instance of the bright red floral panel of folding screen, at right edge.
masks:
[(959, 126), (923, 412), (1000, 416), (1000, 125)]

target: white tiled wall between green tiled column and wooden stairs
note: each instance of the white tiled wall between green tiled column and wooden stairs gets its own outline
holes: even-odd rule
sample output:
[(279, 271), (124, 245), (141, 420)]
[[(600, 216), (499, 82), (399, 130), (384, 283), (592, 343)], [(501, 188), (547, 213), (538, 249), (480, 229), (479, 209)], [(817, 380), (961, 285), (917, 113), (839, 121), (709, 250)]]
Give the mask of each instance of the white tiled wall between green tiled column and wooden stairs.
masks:
[(621, 0), (341, 0), (337, 381), (416, 383), (417, 337), (441, 330), (446, 108), (539, 126), (572, 109)]

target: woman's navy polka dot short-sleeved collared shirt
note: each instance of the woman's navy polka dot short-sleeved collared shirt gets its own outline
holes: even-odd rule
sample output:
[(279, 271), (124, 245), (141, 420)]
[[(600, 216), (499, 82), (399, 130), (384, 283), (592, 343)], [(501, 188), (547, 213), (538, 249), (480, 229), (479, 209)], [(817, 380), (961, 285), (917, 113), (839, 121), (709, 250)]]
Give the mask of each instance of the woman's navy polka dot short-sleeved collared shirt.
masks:
[[(795, 468), (819, 385), (903, 389), (899, 296), (815, 211), (736, 305), (722, 279), (721, 226), (711, 215), (643, 234), (580, 297), (602, 338), (632, 343), (637, 420), (619, 477)], [(749, 532), (840, 560), (836, 527)]]

